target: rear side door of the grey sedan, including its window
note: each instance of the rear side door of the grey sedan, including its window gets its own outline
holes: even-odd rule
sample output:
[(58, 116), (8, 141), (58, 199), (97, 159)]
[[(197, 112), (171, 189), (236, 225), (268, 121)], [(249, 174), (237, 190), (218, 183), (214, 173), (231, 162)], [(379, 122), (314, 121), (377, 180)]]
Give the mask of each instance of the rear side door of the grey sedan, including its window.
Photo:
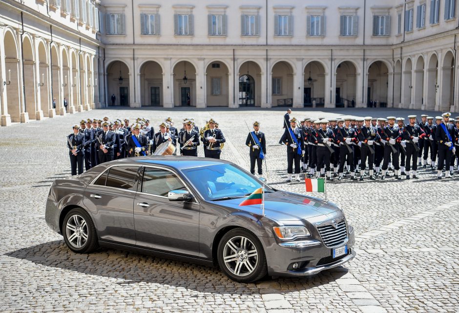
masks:
[(139, 166), (113, 166), (84, 191), (101, 240), (135, 245), (134, 198)]

